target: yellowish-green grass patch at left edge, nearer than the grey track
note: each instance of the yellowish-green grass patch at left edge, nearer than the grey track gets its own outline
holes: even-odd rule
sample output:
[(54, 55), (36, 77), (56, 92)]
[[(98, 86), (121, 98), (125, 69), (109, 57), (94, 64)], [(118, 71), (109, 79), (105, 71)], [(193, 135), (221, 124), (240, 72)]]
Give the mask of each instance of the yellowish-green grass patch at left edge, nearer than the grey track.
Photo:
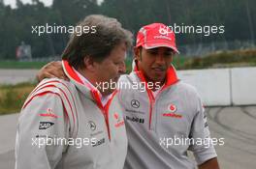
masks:
[(35, 86), (32, 83), (0, 86), (0, 115), (19, 112)]

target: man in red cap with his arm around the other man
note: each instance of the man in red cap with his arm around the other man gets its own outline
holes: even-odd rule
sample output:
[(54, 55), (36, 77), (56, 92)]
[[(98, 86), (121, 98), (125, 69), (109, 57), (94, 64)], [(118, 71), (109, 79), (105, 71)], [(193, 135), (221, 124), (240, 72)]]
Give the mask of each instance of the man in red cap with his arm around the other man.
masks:
[[(172, 66), (177, 52), (175, 34), (166, 25), (153, 23), (139, 31), (135, 68), (119, 80), (130, 86), (143, 83), (145, 89), (120, 88), (118, 94), (129, 145), (125, 169), (193, 169), (188, 150), (200, 169), (219, 168), (201, 99), (193, 87), (177, 79)], [(54, 70), (48, 65), (39, 79), (58, 75)]]

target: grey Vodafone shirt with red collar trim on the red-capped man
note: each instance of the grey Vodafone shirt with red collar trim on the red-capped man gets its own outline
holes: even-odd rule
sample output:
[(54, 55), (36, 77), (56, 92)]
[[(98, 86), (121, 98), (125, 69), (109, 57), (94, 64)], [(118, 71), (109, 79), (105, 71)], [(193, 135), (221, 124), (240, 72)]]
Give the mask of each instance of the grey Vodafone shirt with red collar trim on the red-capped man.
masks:
[[(134, 71), (119, 80), (142, 81)], [(155, 98), (144, 90), (122, 88), (119, 99), (128, 136), (125, 169), (193, 169), (216, 156), (208, 144), (207, 119), (194, 87), (176, 80)], [(188, 157), (188, 150), (196, 161)]]

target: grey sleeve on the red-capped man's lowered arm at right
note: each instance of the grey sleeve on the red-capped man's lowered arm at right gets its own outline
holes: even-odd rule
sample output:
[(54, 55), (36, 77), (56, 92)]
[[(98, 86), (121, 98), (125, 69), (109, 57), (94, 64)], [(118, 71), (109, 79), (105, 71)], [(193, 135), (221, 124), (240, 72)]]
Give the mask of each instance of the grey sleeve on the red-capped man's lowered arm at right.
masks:
[(211, 142), (207, 116), (201, 99), (198, 101), (197, 113), (192, 122), (190, 139), (193, 139), (194, 143), (190, 145), (189, 150), (193, 152), (198, 165), (217, 156)]

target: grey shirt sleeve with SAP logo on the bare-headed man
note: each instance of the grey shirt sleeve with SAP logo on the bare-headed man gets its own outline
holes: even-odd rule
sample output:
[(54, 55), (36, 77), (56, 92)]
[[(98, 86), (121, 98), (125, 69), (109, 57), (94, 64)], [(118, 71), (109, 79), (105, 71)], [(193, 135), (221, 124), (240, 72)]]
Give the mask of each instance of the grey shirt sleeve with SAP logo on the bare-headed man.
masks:
[(69, 133), (63, 106), (57, 94), (48, 93), (34, 97), (21, 110), (16, 131), (16, 169), (56, 167), (66, 151)]

